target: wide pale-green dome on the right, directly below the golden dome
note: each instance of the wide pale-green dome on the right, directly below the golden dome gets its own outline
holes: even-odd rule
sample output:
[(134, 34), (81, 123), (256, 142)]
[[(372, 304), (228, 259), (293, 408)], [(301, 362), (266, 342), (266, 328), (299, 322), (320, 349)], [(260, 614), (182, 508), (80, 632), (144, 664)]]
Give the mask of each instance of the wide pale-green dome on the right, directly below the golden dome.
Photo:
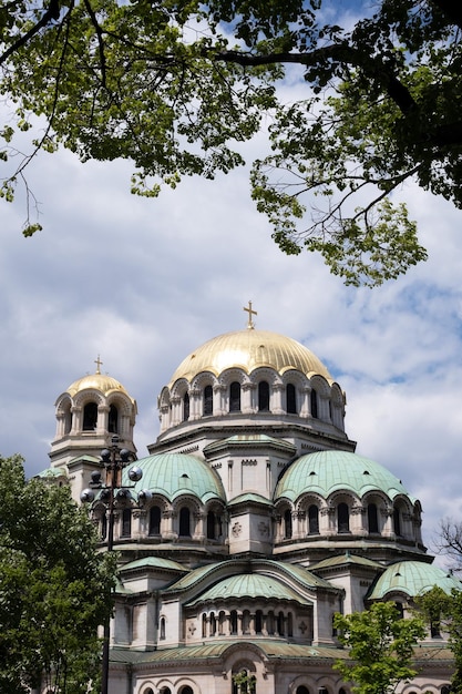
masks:
[(339, 490), (352, 491), (360, 498), (372, 490), (382, 491), (390, 499), (398, 494), (409, 497), (401, 481), (378, 462), (347, 451), (328, 450), (292, 462), (276, 487), (275, 499), (296, 501), (306, 492), (327, 499)]

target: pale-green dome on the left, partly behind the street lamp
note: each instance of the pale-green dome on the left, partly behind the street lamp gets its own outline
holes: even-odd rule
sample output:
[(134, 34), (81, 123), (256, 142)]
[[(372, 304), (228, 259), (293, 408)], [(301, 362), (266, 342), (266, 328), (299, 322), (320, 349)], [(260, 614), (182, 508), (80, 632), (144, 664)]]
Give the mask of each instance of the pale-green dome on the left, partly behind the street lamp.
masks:
[[(160, 453), (136, 460), (134, 465), (143, 470), (143, 477), (132, 487), (133, 496), (146, 489), (153, 494), (166, 497), (170, 501), (182, 494), (193, 494), (203, 503), (209, 499), (226, 500), (218, 474), (195, 456)], [(127, 468), (123, 471), (122, 483), (132, 486)]]

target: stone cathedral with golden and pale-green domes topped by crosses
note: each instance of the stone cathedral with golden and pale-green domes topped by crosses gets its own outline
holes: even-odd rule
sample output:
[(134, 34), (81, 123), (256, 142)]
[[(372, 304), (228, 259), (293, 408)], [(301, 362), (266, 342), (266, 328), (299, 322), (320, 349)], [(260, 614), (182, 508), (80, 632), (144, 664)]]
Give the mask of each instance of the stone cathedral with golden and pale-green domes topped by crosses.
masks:
[[(245, 310), (244, 329), (171, 376), (145, 457), (136, 401), (99, 360), (57, 400), (41, 477), (80, 502), (104, 476), (103, 449), (132, 460), (111, 504), (111, 694), (349, 694), (332, 670), (347, 657), (337, 612), (393, 601), (405, 615), (433, 585), (462, 588), (427, 553), (419, 500), (355, 452), (346, 395), (322, 361)], [(95, 491), (104, 548), (107, 490)], [(429, 632), (399, 694), (446, 694), (451, 663), (444, 635)]]

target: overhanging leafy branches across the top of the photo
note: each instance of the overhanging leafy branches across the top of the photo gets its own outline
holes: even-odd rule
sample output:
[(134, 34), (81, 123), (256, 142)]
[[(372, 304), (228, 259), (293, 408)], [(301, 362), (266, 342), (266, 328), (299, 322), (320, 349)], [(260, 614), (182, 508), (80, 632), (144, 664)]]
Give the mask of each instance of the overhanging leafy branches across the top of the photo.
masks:
[[(412, 178), (462, 206), (462, 6), (367, 8), (340, 27), (321, 0), (0, 0), (0, 156), (43, 115), (37, 150), (131, 160), (133, 192), (157, 195), (242, 164), (268, 126), (253, 196), (281, 249), (320, 252), (349, 284), (397, 277), (427, 256), (393, 192)], [(7, 200), (37, 150), (13, 159)]]

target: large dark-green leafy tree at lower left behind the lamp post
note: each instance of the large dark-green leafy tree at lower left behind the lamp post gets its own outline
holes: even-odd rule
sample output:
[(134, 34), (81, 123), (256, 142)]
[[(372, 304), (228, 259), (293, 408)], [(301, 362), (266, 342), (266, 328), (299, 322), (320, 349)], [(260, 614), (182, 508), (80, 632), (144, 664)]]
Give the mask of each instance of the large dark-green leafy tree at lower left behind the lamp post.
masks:
[(69, 490), (27, 482), (19, 456), (0, 458), (0, 691), (86, 693), (101, 667), (113, 559), (96, 553)]

